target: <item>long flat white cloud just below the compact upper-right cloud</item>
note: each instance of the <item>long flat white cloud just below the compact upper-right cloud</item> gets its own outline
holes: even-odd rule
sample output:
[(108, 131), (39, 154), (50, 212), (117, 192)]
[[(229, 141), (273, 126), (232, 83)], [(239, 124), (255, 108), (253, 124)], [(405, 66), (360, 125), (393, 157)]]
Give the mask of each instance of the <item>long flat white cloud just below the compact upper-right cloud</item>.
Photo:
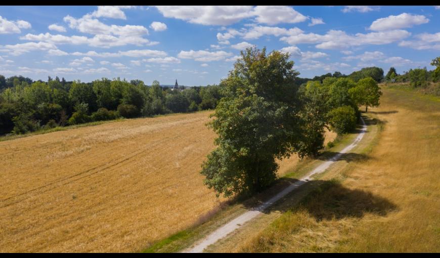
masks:
[(326, 34), (301, 33), (296, 36), (281, 37), (280, 40), (286, 41), (290, 45), (296, 44), (316, 44), (318, 49), (344, 49), (362, 45), (383, 45), (401, 40), (410, 36), (406, 30), (389, 30), (380, 32), (370, 32), (367, 34), (356, 33), (348, 35), (342, 30), (329, 30)]

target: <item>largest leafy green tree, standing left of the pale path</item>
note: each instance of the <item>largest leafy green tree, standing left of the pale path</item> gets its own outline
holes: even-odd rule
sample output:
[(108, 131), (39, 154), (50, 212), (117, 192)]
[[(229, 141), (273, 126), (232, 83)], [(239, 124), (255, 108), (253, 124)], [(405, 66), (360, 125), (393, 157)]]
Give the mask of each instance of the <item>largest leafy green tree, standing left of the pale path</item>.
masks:
[(222, 81), (210, 126), (217, 148), (202, 165), (204, 183), (217, 196), (260, 191), (277, 176), (276, 158), (290, 156), (301, 140), (297, 88), (289, 54), (266, 48), (241, 52)]

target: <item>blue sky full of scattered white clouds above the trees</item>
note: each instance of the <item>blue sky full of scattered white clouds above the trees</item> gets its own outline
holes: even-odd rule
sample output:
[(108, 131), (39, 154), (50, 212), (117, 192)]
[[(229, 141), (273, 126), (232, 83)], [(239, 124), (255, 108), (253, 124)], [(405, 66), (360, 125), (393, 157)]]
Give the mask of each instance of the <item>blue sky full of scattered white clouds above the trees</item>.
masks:
[(218, 83), (240, 50), (291, 54), (300, 77), (432, 69), (440, 6), (4, 6), (0, 74)]

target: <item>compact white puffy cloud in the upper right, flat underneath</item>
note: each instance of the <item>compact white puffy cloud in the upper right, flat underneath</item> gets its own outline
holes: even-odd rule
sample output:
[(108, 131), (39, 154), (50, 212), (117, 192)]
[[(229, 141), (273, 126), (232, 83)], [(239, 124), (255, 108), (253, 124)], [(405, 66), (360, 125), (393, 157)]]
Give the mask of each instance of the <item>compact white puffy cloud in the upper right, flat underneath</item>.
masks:
[(397, 16), (390, 15), (385, 18), (375, 20), (371, 26), (371, 30), (382, 31), (391, 29), (411, 28), (413, 25), (420, 25), (429, 22), (429, 19), (423, 15), (411, 15), (403, 13)]

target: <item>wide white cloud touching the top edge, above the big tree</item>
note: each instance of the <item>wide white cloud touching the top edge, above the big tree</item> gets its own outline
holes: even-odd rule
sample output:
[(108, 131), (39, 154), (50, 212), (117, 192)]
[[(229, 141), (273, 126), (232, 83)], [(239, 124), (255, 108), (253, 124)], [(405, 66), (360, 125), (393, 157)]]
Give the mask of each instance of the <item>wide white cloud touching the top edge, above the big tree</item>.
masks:
[(307, 19), (288, 6), (156, 6), (167, 18), (203, 25), (230, 25), (255, 17), (258, 23), (274, 25), (297, 23)]

